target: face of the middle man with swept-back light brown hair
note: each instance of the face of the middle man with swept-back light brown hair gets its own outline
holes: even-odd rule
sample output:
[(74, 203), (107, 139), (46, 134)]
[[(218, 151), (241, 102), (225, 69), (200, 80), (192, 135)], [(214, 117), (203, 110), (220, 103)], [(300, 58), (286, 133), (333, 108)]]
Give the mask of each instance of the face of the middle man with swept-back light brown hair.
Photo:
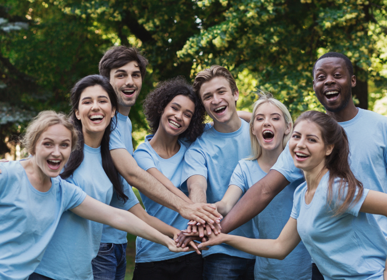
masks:
[(215, 123), (226, 123), (237, 116), (235, 101), (239, 98), (239, 92), (235, 90), (232, 94), (226, 78), (215, 77), (203, 83), (199, 93), (207, 114)]

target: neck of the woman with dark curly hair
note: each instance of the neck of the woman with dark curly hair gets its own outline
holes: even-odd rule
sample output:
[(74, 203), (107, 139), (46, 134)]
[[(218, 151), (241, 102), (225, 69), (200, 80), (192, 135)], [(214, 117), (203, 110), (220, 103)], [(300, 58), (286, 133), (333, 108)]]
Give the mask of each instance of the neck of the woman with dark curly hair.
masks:
[(171, 136), (159, 127), (149, 143), (155, 152), (157, 152), (157, 155), (163, 159), (169, 159), (176, 155), (180, 150), (180, 144), (177, 141), (178, 139), (178, 135)]

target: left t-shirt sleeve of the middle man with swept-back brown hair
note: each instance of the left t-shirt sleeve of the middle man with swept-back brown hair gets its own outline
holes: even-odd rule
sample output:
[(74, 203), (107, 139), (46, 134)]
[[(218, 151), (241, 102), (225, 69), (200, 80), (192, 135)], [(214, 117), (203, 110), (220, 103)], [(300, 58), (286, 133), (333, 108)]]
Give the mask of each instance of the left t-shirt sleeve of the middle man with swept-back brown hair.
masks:
[(208, 170), (206, 163), (203, 151), (201, 151), (197, 145), (192, 144), (184, 155), (181, 183), (184, 183), (190, 176), (193, 175), (202, 175), (207, 179)]

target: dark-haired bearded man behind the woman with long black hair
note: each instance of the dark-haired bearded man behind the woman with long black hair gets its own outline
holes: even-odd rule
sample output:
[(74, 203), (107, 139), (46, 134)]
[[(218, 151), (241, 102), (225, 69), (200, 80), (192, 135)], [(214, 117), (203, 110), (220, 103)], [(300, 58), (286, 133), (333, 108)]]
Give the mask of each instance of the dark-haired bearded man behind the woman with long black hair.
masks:
[[(128, 115), (140, 93), (147, 65), (147, 59), (137, 48), (126, 46), (110, 48), (100, 61), (100, 73), (110, 80), (119, 104), (116, 128), (110, 135), (110, 153), (114, 166), (130, 185), (155, 202), (177, 211), (186, 219), (213, 223), (220, 216), (214, 208), (204, 203), (188, 203), (184, 197), (179, 196), (181, 193), (177, 188), (166, 188), (133, 159), (132, 123)], [(130, 193), (130, 190), (126, 190), (126, 193)], [(110, 205), (127, 211), (136, 203), (137, 199), (129, 199), (124, 204), (113, 194)], [(126, 232), (104, 226), (101, 251), (92, 262), (95, 279), (124, 279), (126, 236)]]

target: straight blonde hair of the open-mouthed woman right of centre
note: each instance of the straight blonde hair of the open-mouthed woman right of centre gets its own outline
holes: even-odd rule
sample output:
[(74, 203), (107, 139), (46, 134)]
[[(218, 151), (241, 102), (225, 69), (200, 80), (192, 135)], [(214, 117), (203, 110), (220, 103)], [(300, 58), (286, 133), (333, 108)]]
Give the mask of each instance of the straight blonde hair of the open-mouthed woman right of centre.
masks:
[(257, 109), (259, 106), (265, 103), (270, 103), (274, 106), (276, 106), (278, 109), (282, 111), (283, 118), (285, 120), (285, 126), (290, 125), (291, 131), (283, 136), (282, 140), (282, 148), (285, 148), (287, 141), (289, 141), (292, 131), (293, 131), (293, 120), (292, 116), (287, 110), (286, 106), (281, 103), (281, 101), (274, 98), (273, 94), (270, 92), (265, 92), (262, 90), (258, 90), (256, 92), (258, 94), (258, 100), (255, 101), (253, 104), (253, 113), (251, 115), (250, 119), (250, 141), (251, 141), (251, 155), (246, 160), (256, 160), (262, 155), (262, 147), (259, 145), (257, 137), (253, 134), (253, 127), (254, 127), (254, 121), (255, 121), (255, 113), (257, 112)]

